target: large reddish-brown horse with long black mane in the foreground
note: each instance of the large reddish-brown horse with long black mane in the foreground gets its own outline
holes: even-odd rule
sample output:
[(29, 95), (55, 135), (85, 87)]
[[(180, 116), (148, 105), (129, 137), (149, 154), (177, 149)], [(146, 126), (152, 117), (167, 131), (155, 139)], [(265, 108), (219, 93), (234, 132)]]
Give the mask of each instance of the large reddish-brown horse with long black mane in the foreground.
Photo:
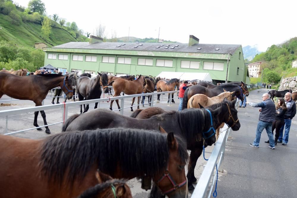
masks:
[[(78, 197), (100, 183), (98, 169), (114, 178), (147, 174), (157, 183), (169, 167), (180, 183), (186, 181), (179, 167), (188, 154), (177, 141), (173, 133), (138, 129), (60, 133), (41, 140), (0, 135), (0, 197)], [(164, 191), (173, 187), (168, 180), (158, 186)], [(169, 197), (184, 195), (186, 189), (184, 185)]]

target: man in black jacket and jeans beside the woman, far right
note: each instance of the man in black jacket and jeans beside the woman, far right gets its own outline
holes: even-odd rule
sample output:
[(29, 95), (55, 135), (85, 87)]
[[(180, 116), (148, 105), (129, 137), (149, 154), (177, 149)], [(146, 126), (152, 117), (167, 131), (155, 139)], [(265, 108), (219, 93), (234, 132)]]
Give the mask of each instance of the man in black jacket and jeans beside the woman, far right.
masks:
[[(287, 145), (289, 141), (289, 132), (290, 132), (290, 127), (292, 123), (292, 118), (296, 115), (296, 104), (295, 102), (291, 99), (292, 94), (290, 92), (287, 92), (285, 94), (285, 103), (287, 106), (287, 112), (284, 115), (285, 118), (285, 124), (282, 126), (282, 128), (279, 130), (279, 139), (277, 142), (282, 143), (282, 145)], [(284, 137), (282, 136), (283, 131), (285, 128), (285, 134)]]

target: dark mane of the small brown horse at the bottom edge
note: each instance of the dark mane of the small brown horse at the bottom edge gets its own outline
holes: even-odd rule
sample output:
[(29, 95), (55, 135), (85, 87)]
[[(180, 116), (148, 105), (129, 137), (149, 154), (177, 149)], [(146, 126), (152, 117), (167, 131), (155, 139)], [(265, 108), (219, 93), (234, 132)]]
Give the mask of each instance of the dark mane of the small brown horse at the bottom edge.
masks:
[(100, 191), (103, 191), (106, 188), (110, 188), (111, 185), (126, 184), (126, 180), (107, 180), (104, 183), (97, 184), (86, 191), (84, 191), (78, 198), (93, 198), (97, 197)]

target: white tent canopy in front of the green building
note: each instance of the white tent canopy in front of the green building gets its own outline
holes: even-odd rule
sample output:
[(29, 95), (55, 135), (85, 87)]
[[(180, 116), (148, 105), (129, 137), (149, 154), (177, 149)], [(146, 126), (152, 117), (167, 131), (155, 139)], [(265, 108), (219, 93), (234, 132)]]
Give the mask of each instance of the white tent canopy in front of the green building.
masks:
[(181, 80), (199, 80), (212, 82), (209, 73), (196, 73), (196, 72), (161, 72), (157, 77), (161, 78), (178, 78)]

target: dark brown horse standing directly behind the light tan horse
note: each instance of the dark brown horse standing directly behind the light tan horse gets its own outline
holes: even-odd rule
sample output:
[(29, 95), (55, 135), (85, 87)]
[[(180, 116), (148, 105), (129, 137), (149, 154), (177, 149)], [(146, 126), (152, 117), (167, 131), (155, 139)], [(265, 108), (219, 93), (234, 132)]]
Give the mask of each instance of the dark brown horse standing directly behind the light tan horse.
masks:
[(201, 85), (192, 85), (192, 86), (188, 87), (184, 93), (182, 109), (187, 108), (188, 100), (195, 94), (204, 94), (204, 95), (208, 96), (209, 98), (212, 98), (214, 96), (217, 96), (217, 95), (223, 93), (224, 91), (230, 91), (230, 92), (234, 91), (234, 93), (232, 94), (232, 97), (236, 96), (241, 101), (244, 100), (242, 89), (238, 85), (225, 84), (225, 85), (217, 86), (212, 89), (203, 87)]

